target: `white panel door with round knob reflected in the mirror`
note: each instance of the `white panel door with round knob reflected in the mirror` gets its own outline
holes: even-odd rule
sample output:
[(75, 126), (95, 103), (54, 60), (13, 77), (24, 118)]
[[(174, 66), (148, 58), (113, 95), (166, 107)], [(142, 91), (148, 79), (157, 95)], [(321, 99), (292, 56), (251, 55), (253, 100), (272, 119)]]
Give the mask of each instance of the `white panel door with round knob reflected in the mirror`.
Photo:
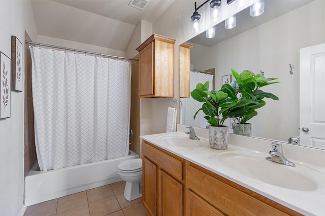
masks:
[(300, 143), (325, 148), (325, 44), (300, 49)]

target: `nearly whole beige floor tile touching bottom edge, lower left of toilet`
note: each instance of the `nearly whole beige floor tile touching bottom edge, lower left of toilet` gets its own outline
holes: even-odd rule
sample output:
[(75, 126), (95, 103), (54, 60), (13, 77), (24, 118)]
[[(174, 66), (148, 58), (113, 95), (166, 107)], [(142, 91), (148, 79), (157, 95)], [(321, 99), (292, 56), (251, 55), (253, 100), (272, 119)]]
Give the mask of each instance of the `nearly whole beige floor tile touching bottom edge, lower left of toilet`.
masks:
[(89, 203), (91, 216), (103, 216), (114, 211), (120, 210), (121, 207), (115, 196), (110, 196), (101, 200)]

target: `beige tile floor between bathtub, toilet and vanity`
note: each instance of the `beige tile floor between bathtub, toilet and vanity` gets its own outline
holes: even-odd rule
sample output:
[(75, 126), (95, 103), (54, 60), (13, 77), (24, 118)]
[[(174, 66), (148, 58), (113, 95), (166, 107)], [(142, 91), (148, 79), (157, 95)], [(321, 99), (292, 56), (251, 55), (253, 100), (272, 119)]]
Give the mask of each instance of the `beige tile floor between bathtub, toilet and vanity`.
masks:
[(24, 216), (147, 216), (141, 198), (124, 198), (124, 186), (121, 181), (31, 205)]

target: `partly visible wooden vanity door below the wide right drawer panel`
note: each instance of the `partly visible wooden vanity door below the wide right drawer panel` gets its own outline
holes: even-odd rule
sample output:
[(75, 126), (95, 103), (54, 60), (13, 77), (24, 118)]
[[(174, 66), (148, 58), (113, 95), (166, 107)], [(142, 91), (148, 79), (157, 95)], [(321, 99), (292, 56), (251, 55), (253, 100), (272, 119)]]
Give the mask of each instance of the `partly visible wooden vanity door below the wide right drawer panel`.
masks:
[(225, 214), (190, 190), (186, 191), (186, 215), (224, 216)]

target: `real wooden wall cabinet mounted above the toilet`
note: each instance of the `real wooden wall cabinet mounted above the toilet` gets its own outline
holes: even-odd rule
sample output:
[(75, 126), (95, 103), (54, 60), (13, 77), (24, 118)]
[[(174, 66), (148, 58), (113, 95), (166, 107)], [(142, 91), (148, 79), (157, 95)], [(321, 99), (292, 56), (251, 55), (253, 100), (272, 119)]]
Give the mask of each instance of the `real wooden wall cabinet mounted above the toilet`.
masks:
[(139, 97), (174, 97), (175, 39), (152, 34), (139, 52)]

